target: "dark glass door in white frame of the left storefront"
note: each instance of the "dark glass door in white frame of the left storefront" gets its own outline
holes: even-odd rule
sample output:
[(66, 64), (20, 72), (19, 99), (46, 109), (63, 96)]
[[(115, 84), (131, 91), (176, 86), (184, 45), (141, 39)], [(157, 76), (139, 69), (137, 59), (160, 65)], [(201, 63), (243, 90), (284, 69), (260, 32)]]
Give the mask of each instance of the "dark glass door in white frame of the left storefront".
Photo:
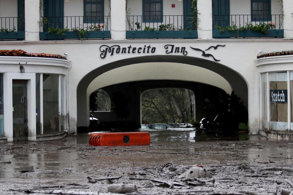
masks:
[(12, 81), (13, 141), (27, 140), (27, 81)]

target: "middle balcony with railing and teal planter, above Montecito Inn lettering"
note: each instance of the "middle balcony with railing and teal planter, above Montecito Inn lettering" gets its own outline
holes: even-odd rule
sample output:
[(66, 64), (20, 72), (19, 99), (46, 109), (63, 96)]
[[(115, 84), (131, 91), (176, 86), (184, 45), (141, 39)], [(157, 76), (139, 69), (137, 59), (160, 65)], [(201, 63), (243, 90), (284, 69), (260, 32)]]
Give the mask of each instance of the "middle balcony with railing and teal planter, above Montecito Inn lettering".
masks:
[(126, 16), (126, 38), (197, 38), (194, 16)]

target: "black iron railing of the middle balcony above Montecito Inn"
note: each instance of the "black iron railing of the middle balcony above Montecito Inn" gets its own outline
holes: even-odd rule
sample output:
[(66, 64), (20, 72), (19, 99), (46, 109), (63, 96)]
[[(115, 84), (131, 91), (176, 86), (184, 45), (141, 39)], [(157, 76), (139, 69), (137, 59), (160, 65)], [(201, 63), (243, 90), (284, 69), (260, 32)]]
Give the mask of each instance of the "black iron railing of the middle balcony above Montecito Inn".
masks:
[(126, 30), (197, 30), (197, 17), (126, 16)]

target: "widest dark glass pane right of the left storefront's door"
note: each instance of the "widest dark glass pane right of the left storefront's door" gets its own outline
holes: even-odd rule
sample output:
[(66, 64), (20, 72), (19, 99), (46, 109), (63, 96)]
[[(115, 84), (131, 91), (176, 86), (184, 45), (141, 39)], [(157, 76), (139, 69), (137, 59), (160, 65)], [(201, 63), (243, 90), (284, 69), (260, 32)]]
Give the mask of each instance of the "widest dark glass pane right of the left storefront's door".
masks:
[(43, 133), (59, 131), (59, 76), (43, 74)]

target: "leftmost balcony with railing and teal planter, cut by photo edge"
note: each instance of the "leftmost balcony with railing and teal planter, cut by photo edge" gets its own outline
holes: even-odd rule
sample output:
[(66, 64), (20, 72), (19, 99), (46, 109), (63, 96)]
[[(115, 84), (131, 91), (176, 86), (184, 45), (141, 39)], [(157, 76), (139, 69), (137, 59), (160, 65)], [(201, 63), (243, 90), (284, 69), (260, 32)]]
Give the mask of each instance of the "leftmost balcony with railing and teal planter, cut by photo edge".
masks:
[(1, 40), (24, 39), (24, 17), (0, 17)]

